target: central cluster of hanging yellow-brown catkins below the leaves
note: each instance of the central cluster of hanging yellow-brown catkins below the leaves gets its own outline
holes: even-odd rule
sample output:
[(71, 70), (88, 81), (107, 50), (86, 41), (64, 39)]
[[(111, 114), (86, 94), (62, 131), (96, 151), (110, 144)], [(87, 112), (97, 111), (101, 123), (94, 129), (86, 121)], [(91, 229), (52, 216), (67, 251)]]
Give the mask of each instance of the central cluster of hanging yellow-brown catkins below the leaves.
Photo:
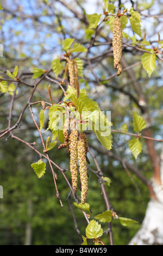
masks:
[[(71, 133), (69, 135), (69, 127)], [(88, 151), (88, 144), (86, 135), (81, 132), (80, 135), (77, 130), (76, 120), (73, 118), (67, 118), (64, 123), (63, 133), (65, 141), (59, 145), (59, 149), (67, 148), (70, 152), (70, 171), (72, 179), (72, 189), (74, 194), (77, 193), (78, 188), (78, 165), (79, 164), (79, 179), (80, 179), (80, 190), (81, 190), (81, 202), (85, 204), (87, 191), (88, 191), (88, 176), (86, 162), (89, 163), (86, 153)]]

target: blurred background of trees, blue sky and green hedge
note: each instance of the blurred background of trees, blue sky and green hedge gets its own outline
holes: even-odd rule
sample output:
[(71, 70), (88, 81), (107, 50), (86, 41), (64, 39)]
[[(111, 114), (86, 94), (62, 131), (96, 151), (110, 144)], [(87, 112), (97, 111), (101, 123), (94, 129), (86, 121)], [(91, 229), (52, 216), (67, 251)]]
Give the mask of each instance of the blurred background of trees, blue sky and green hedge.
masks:
[[(103, 111), (111, 111), (112, 149), (107, 153), (96, 136), (88, 135), (89, 145), (101, 167), (104, 176), (111, 180), (105, 186), (112, 207), (119, 216), (132, 218), (139, 224), (123, 227), (116, 220), (112, 221), (112, 234), (115, 245), (127, 245), (146, 214), (147, 203), (154, 194), (149, 193), (154, 177), (160, 182), (160, 154), (162, 142), (141, 138), (142, 153), (135, 160), (128, 147), (130, 135), (120, 132), (121, 125), (128, 126), (133, 133), (133, 112), (141, 114), (147, 129), (143, 135), (162, 139), (162, 59), (156, 59), (156, 68), (149, 78), (142, 68), (141, 56), (143, 46), (161, 47), (162, 40), (162, 1), (111, 1), (117, 10), (120, 8), (139, 11), (142, 20), (142, 39), (127, 27), (123, 29), (123, 72), (117, 77), (113, 65), (111, 19), (97, 28), (90, 28), (87, 14), (102, 14), (103, 4), (107, 1), (90, 0), (3, 0), (1, 15), (1, 41), (3, 57), (0, 57), (0, 72), (3, 83), (8, 88), (0, 92), (0, 185), (3, 186), (3, 199), (0, 199), (0, 244), (1, 245), (79, 245), (83, 242), (86, 221), (82, 212), (73, 206), (72, 198), (68, 200), (70, 187), (64, 176), (55, 168), (58, 175), (57, 186), (64, 208), (56, 197), (51, 169), (38, 179), (31, 164), (39, 156), (28, 145), (12, 138), (9, 128), (17, 124), (32, 90), (46, 70), (52, 68), (53, 59), (60, 57), (62, 40), (74, 38), (76, 42), (87, 47), (86, 53), (77, 54), (83, 61), (83, 77), (80, 88), (86, 88), (91, 99), (98, 102)], [(150, 25), (150, 26), (149, 26)], [(159, 45), (159, 46), (158, 46)], [(18, 66), (18, 81), (7, 76)], [(34, 75), (34, 68), (43, 70), (40, 77)], [(43, 78), (36, 88), (32, 101), (49, 101), (48, 84), (51, 83), (53, 101), (58, 103), (63, 93), (58, 83), (62, 74), (55, 77), (54, 72)], [(1, 82), (2, 83), (2, 82)], [(3, 85), (2, 83), (2, 85)], [(65, 84), (64, 89), (67, 89)], [(13, 97), (13, 94), (15, 96)], [(11, 102), (14, 104), (11, 109)], [(33, 113), (39, 123), (41, 105), (33, 106)], [(10, 116), (9, 113), (11, 113)], [(10, 118), (12, 119), (10, 120)], [(48, 122), (48, 120), (46, 120)], [(10, 127), (9, 127), (10, 124)], [(21, 124), (12, 132), (42, 153), (42, 144), (29, 108), (24, 109)], [(45, 125), (46, 128), (46, 125)], [(49, 133), (47, 133), (49, 135)], [(35, 145), (36, 144), (36, 145)], [(57, 147), (49, 152), (49, 157), (61, 168), (68, 169), (69, 157), (66, 151)], [(87, 202), (91, 206), (91, 217), (106, 210), (101, 194), (97, 166), (89, 155), (89, 194)], [(70, 172), (65, 172), (71, 180)], [(71, 212), (76, 216), (80, 235)], [(103, 224), (104, 230), (107, 225)], [(103, 242), (109, 244), (108, 234)]]

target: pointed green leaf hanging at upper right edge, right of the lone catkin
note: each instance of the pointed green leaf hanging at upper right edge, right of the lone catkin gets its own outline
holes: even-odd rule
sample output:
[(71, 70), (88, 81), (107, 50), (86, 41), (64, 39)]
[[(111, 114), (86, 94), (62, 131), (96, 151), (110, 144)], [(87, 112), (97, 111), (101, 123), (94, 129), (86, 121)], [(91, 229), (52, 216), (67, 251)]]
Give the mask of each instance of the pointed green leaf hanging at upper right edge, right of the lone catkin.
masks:
[(141, 63), (143, 68), (147, 71), (149, 77), (151, 77), (152, 72), (155, 70), (156, 66), (156, 56), (155, 53), (143, 53), (141, 57)]

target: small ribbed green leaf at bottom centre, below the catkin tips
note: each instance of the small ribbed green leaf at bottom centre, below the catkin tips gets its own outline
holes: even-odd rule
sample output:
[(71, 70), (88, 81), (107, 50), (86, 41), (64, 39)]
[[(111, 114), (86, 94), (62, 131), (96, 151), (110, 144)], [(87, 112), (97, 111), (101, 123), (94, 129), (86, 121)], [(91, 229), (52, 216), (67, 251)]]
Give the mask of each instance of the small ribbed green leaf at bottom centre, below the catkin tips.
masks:
[(101, 224), (98, 224), (98, 222), (94, 220), (90, 221), (85, 231), (86, 231), (86, 236), (89, 239), (97, 239), (98, 237), (103, 235), (103, 229), (101, 227)]

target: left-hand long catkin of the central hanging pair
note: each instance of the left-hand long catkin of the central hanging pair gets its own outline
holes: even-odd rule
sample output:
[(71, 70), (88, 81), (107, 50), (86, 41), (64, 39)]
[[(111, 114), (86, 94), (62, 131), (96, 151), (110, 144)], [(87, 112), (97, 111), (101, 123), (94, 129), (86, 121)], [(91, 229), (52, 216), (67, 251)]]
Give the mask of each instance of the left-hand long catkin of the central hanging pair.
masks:
[(70, 120), (70, 129), (71, 134), (69, 137), (70, 140), (70, 171), (71, 171), (71, 180), (72, 180), (72, 189), (74, 194), (77, 192), (78, 188), (78, 130), (76, 129), (76, 121), (74, 119)]

